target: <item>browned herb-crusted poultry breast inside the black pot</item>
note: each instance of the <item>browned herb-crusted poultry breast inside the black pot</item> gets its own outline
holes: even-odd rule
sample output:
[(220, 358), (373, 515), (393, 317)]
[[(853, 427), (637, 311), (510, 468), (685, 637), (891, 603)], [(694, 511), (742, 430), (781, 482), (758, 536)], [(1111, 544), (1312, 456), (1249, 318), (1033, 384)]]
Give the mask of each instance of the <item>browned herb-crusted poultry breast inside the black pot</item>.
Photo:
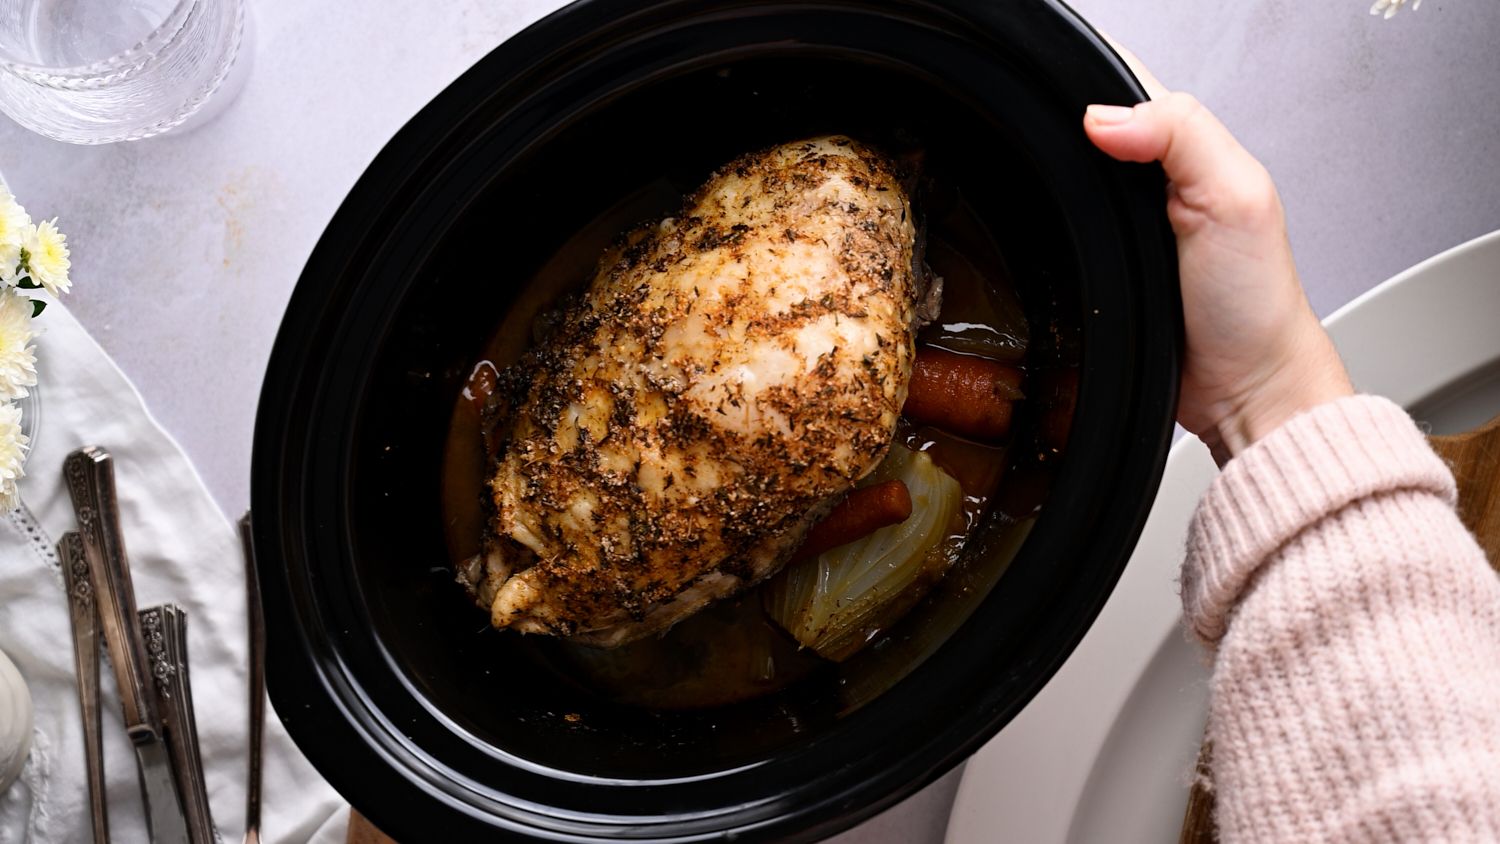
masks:
[(774, 574), (890, 447), (934, 304), (916, 249), (892, 165), (825, 136), (606, 252), (484, 414), (459, 580), (492, 624), (615, 646)]

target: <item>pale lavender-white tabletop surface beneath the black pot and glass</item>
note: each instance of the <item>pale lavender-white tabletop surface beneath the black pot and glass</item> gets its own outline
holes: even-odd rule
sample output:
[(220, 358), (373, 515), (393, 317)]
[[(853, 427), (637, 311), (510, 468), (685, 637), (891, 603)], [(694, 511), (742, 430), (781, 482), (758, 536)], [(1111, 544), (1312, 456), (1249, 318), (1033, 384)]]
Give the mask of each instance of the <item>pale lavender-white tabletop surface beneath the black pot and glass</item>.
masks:
[[(1318, 313), (1500, 228), (1500, 4), (1426, 0), (1382, 21), (1365, 3), (1076, 3), (1266, 162)], [(69, 234), (68, 304), (228, 514), (248, 505), (261, 375), (326, 222), (417, 109), (560, 4), (254, 3), (249, 79), (195, 132), (70, 147), (0, 120), (0, 171)], [(956, 787), (837, 841), (940, 841)]]

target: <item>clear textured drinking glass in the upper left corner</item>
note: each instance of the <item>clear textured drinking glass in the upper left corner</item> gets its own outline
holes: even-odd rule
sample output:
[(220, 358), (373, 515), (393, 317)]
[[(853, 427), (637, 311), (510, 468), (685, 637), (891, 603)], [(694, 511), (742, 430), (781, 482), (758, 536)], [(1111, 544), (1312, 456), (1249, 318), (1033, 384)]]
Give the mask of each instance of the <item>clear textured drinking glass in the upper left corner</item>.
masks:
[(74, 144), (206, 120), (248, 64), (244, 22), (244, 0), (0, 0), (0, 111)]

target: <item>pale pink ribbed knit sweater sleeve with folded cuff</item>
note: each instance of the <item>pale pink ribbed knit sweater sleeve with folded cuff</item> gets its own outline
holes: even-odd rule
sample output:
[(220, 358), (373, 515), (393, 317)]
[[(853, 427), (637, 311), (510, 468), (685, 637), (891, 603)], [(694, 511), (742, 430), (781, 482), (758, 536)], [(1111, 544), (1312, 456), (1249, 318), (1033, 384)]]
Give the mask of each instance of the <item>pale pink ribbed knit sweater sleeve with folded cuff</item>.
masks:
[(1215, 649), (1220, 840), (1500, 841), (1500, 579), (1396, 405), (1302, 414), (1226, 465), (1182, 604)]

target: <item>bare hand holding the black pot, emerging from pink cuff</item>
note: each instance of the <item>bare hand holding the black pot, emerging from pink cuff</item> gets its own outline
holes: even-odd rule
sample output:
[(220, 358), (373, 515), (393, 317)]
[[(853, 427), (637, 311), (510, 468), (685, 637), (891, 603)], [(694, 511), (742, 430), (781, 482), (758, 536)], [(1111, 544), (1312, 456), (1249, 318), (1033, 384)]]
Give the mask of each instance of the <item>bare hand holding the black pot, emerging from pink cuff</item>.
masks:
[(1090, 105), (1083, 127), (1107, 154), (1167, 171), (1188, 342), (1178, 421), (1224, 465), (1353, 387), (1302, 292), (1270, 174), (1192, 96), (1120, 52), (1152, 100)]

